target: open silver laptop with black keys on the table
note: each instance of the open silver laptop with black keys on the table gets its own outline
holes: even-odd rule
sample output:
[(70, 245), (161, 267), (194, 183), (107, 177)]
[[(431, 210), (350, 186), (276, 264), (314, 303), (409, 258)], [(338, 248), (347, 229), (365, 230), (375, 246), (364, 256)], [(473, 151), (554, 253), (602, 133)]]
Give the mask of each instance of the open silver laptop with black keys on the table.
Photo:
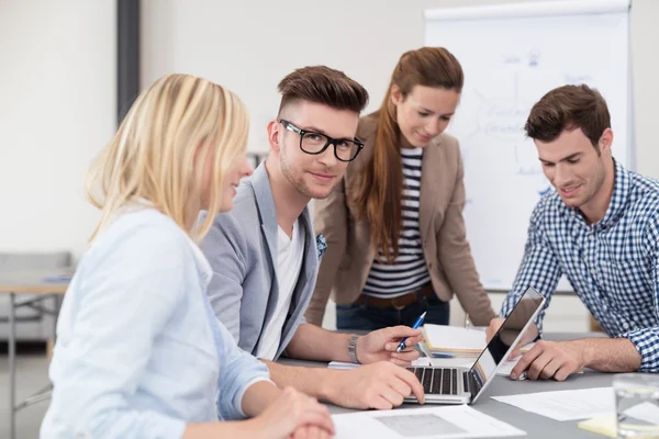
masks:
[[(528, 288), (515, 304), (492, 340), (481, 351), (471, 367), (409, 367), (425, 392), (425, 401), (431, 404), (473, 404), (488, 384), (496, 375), (496, 370), (507, 361), (512, 347), (520, 341), (522, 334), (534, 322), (545, 304), (545, 297)], [(416, 403), (411, 395), (405, 402)]]

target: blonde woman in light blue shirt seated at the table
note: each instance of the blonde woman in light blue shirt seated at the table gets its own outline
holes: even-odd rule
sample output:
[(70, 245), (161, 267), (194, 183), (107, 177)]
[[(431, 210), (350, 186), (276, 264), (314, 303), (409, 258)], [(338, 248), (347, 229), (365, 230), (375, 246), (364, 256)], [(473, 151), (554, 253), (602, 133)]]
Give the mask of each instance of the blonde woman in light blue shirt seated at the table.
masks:
[[(328, 437), (326, 407), (280, 391), (214, 317), (198, 248), (252, 173), (241, 101), (171, 75), (91, 169), (101, 219), (65, 296), (42, 438)], [(244, 421), (219, 420), (254, 417)]]

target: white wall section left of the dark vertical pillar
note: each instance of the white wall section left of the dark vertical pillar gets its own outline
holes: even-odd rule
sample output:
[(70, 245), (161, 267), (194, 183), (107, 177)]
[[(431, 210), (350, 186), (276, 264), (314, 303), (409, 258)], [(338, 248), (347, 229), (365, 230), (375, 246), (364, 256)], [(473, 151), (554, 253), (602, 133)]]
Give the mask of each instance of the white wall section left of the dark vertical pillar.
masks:
[(80, 254), (115, 121), (115, 1), (0, 0), (0, 251)]

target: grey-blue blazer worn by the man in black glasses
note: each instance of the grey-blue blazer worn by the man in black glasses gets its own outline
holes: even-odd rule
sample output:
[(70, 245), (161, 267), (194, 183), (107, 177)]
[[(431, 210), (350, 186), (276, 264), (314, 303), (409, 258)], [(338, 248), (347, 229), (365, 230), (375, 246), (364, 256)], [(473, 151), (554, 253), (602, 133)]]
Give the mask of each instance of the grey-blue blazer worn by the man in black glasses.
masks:
[[(319, 270), (319, 252), (309, 210), (300, 215), (305, 230), (302, 269), (293, 291), (291, 307), (275, 359), (281, 356), (313, 293)], [(201, 243), (213, 268), (208, 294), (215, 315), (252, 354), (258, 351), (261, 334), (272, 318), (279, 297), (277, 280), (277, 212), (265, 162), (252, 178), (241, 183), (234, 209), (219, 214)]]

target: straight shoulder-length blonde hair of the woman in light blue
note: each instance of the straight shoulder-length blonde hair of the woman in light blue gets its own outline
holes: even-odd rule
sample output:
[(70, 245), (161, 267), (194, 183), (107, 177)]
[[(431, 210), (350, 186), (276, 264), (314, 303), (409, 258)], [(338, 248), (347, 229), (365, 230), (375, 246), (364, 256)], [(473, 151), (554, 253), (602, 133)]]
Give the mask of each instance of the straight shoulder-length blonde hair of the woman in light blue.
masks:
[[(245, 154), (247, 133), (247, 112), (231, 91), (190, 75), (158, 79), (135, 100), (89, 170), (87, 193), (102, 212), (90, 240), (126, 204), (153, 203), (199, 243), (222, 205), (226, 171)], [(202, 209), (202, 164), (209, 159), (209, 215), (188, 230), (186, 224), (197, 219), (189, 216)], [(190, 203), (199, 206), (190, 210)]]

